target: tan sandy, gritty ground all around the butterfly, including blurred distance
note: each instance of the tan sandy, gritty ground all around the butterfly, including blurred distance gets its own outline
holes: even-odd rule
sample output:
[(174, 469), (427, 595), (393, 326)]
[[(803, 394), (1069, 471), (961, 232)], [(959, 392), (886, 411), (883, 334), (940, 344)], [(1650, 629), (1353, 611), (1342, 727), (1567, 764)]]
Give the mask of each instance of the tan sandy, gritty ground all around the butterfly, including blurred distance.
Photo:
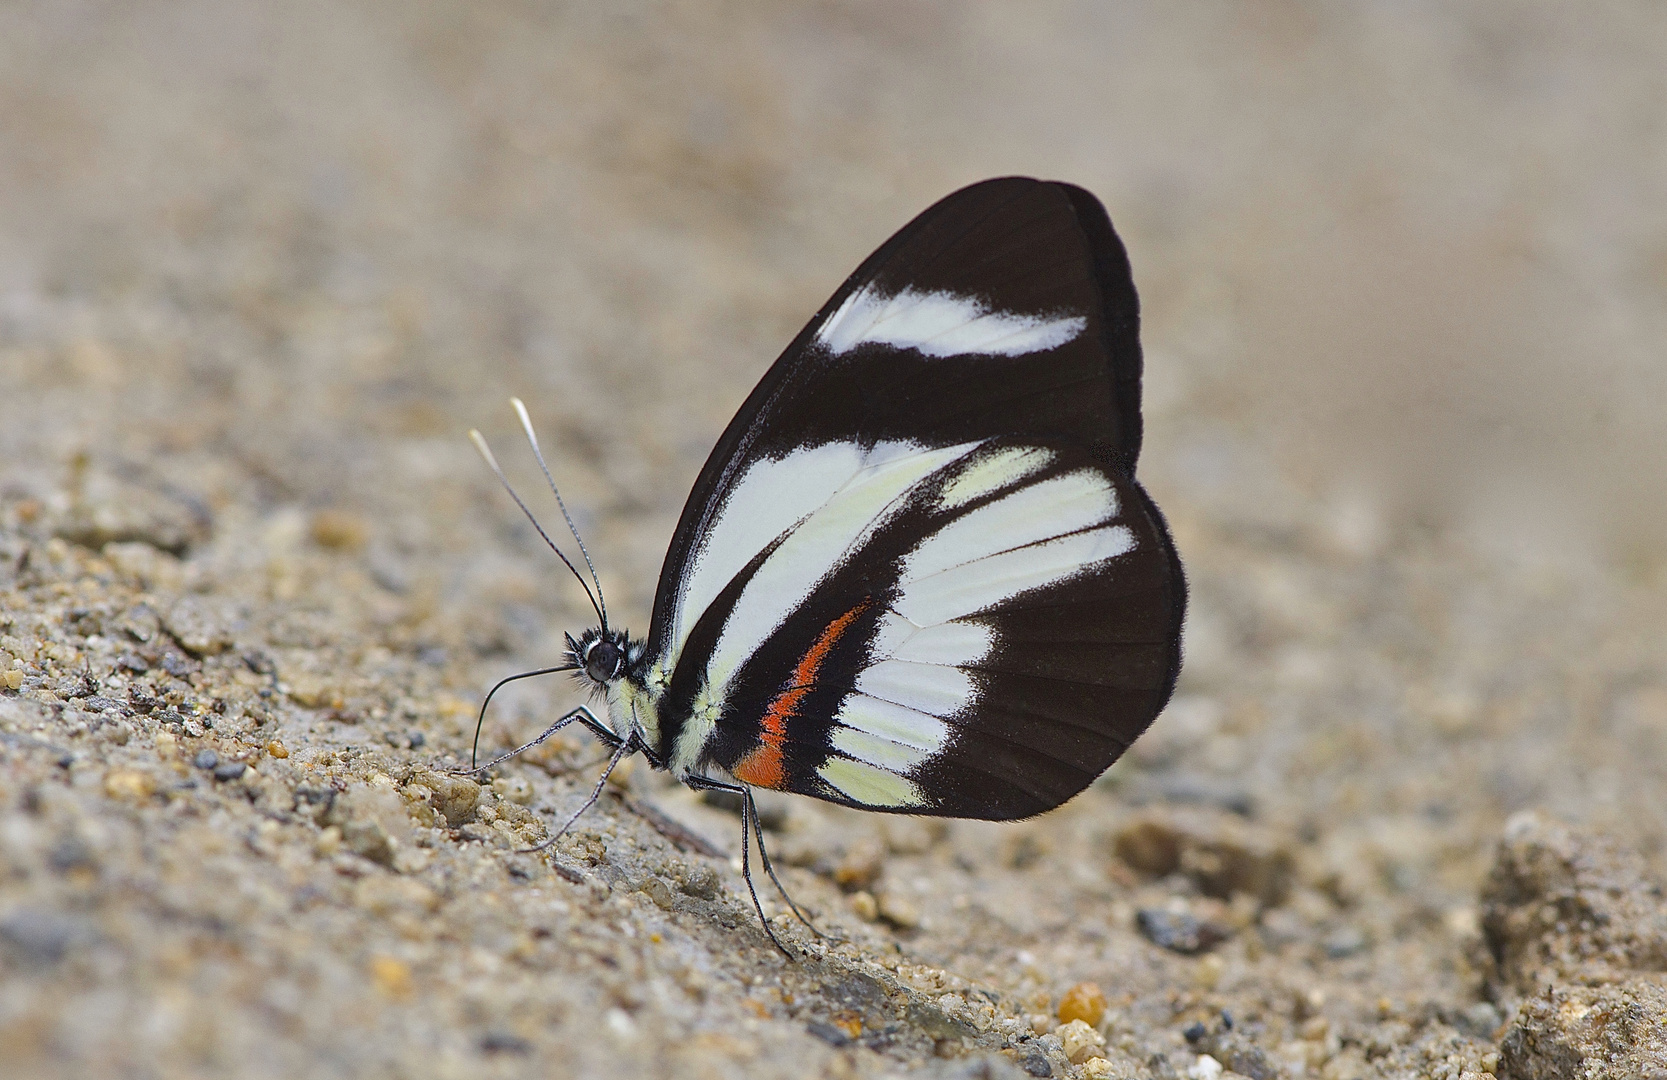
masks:
[[(0, 12), (0, 1075), (1667, 1077), (1667, 23), (1255, 12)], [(537, 492), (527, 398), (643, 627), (1004, 172), (1130, 243), (1170, 710), (1034, 822), (772, 800), (793, 962), (642, 765), (517, 853), (600, 750), (443, 768), (587, 608), (463, 432)]]

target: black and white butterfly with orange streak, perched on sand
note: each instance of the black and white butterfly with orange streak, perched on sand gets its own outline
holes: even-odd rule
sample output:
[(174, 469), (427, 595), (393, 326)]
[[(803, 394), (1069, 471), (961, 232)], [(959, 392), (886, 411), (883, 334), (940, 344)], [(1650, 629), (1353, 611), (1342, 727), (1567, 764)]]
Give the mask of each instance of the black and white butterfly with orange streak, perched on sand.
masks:
[(944, 198), (730, 422), (647, 638), (607, 623), (597, 585), (600, 625), (550, 670), (607, 713), (535, 742), (580, 722), (612, 763), (642, 752), (740, 793), (760, 855), (760, 787), (985, 820), (1064, 803), (1180, 670), (1185, 580), (1135, 480), (1140, 367), (1129, 258), (1094, 195), (1010, 177)]

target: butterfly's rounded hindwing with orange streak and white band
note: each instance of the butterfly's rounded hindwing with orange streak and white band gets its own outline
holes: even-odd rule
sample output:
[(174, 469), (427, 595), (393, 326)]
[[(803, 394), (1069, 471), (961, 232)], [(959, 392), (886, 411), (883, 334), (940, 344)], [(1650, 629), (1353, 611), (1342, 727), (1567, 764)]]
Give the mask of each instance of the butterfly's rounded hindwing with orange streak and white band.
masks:
[(917, 483), (748, 655), (717, 765), (864, 808), (1007, 818), (1122, 753), (1172, 680), (1169, 572), (1142, 557), (1162, 532), (1069, 447), (1025, 448), (1049, 462), (959, 502), (1014, 450)]

